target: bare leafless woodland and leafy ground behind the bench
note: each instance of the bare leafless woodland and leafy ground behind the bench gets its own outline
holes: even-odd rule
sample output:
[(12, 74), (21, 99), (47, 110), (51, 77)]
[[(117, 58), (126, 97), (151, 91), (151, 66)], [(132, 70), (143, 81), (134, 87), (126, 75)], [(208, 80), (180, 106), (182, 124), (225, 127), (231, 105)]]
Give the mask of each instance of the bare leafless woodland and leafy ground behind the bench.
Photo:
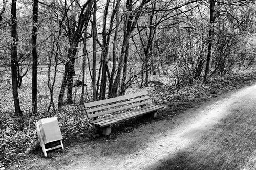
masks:
[(3, 0), (0, 7), (0, 167), (36, 151), (40, 118), (57, 116), (66, 139), (98, 137), (85, 102), (147, 90), (168, 106), (160, 117), (174, 116), (255, 77), (254, 1)]

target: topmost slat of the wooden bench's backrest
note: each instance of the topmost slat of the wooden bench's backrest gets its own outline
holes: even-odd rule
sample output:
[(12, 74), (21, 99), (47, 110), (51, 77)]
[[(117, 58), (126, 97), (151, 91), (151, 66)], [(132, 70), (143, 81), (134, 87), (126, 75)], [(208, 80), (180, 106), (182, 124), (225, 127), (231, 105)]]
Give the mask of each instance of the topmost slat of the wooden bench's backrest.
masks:
[(127, 99), (132, 99), (132, 98), (138, 98), (138, 97), (144, 96), (144, 95), (148, 95), (148, 92), (143, 91), (143, 92), (140, 92), (140, 93), (119, 96), (119, 97), (116, 97), (116, 98), (84, 103), (84, 107), (85, 108), (94, 107), (94, 106), (103, 105), (103, 104), (107, 104), (107, 103), (118, 102), (118, 101), (123, 101), (123, 100), (127, 100)]

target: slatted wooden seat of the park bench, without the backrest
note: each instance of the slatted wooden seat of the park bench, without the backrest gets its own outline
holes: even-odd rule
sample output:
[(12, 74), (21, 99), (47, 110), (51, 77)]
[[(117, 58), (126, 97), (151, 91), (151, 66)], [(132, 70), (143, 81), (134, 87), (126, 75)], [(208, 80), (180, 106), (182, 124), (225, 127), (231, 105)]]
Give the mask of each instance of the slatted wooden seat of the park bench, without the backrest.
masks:
[(161, 108), (163, 108), (163, 106), (151, 106), (151, 107), (142, 108), (140, 110), (134, 110), (131, 112), (127, 112), (126, 114), (122, 113), (115, 117), (112, 116), (113, 118), (109, 118), (109, 119), (103, 118), (101, 122), (97, 122), (94, 125), (98, 125), (100, 127), (110, 126), (110, 125), (122, 122), (123, 120), (127, 120), (132, 117), (137, 117), (137, 116), (140, 116), (143, 114), (155, 112)]

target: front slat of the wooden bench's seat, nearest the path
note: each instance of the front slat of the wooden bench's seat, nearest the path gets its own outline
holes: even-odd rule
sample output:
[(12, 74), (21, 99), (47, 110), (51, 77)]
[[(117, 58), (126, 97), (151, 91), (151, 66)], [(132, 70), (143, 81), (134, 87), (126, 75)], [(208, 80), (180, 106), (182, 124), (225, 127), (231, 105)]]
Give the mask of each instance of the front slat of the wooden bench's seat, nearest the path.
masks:
[(121, 115), (120, 117), (116, 117), (113, 120), (109, 119), (108, 122), (100, 123), (100, 124), (97, 124), (97, 125), (100, 126), (100, 127), (110, 126), (110, 125), (122, 122), (123, 120), (127, 120), (127, 119), (130, 119), (130, 118), (133, 118), (133, 117), (141, 116), (143, 114), (155, 112), (155, 111), (157, 111), (157, 110), (159, 110), (161, 108), (163, 108), (163, 107), (159, 106), (159, 107), (157, 107), (155, 109), (147, 109), (147, 110), (135, 111), (135, 112), (132, 112), (131, 114), (125, 114), (125, 116)]

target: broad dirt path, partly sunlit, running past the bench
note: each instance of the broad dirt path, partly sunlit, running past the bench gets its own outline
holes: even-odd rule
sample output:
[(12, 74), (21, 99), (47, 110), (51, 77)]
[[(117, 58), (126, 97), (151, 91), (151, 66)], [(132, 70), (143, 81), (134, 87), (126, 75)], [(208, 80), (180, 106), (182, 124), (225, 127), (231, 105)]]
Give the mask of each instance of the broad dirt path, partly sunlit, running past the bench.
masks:
[(256, 169), (256, 85), (27, 169)]

